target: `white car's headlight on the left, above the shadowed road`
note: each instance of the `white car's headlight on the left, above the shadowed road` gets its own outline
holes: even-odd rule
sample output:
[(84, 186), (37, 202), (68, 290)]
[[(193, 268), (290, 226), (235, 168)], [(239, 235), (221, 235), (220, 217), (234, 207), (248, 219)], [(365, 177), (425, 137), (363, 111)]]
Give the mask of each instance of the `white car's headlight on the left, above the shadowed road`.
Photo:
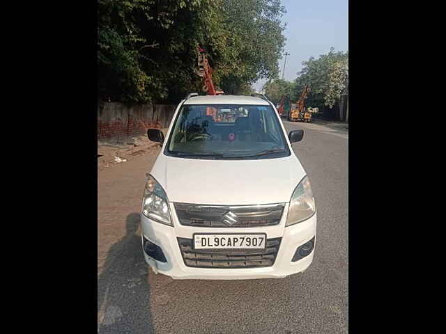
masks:
[(169, 214), (169, 200), (162, 186), (148, 175), (144, 195), (142, 196), (142, 214), (154, 221), (173, 226)]

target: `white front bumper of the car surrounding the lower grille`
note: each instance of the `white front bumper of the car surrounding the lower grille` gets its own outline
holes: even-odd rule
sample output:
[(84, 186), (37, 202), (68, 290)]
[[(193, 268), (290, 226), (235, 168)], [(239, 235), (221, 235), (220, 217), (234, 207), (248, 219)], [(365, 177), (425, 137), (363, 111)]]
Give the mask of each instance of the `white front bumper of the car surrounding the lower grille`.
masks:
[[(285, 227), (286, 212), (284, 209), (282, 220), (277, 226), (266, 228), (196, 228), (180, 225), (175, 214), (171, 214), (174, 227), (157, 223), (141, 214), (141, 246), (143, 237), (162, 249), (167, 262), (160, 262), (149, 257), (144, 248), (142, 252), (146, 262), (155, 273), (162, 273), (174, 279), (206, 279), (206, 280), (246, 280), (256, 278), (284, 278), (293, 273), (305, 271), (313, 261), (312, 253), (301, 260), (291, 262), (296, 249), (316, 236), (316, 214), (311, 218)], [(174, 207), (171, 205), (171, 213)], [(267, 239), (281, 237), (282, 241), (274, 264), (271, 267), (259, 268), (196, 268), (187, 267), (178, 245), (177, 237), (192, 239), (194, 233), (266, 233)]]

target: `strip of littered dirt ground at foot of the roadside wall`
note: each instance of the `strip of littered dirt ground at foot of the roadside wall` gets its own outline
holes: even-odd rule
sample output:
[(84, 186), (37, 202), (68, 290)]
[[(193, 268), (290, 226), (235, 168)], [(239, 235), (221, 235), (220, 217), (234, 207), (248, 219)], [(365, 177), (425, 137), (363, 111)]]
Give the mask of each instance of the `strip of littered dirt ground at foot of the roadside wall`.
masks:
[[(165, 135), (167, 129), (162, 132)], [(98, 171), (125, 164), (139, 155), (153, 154), (159, 148), (160, 144), (150, 141), (146, 135), (98, 141)]]

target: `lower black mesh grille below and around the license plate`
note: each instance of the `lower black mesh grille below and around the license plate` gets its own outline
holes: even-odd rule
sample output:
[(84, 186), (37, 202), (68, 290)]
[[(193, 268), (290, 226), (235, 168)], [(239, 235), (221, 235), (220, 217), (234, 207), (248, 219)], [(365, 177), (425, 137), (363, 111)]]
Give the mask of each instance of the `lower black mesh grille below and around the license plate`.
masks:
[(265, 250), (220, 250), (192, 248), (192, 239), (177, 238), (187, 267), (197, 268), (259, 268), (271, 267), (279, 251), (282, 238), (266, 240)]

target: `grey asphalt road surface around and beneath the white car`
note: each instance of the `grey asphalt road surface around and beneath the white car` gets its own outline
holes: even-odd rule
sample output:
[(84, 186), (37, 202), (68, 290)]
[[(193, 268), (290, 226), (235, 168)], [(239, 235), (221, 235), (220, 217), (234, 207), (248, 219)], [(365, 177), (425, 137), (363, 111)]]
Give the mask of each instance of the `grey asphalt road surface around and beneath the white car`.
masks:
[(277, 280), (172, 280), (141, 254), (144, 155), (98, 172), (98, 333), (348, 333), (348, 130), (291, 123), (312, 182), (314, 262)]

